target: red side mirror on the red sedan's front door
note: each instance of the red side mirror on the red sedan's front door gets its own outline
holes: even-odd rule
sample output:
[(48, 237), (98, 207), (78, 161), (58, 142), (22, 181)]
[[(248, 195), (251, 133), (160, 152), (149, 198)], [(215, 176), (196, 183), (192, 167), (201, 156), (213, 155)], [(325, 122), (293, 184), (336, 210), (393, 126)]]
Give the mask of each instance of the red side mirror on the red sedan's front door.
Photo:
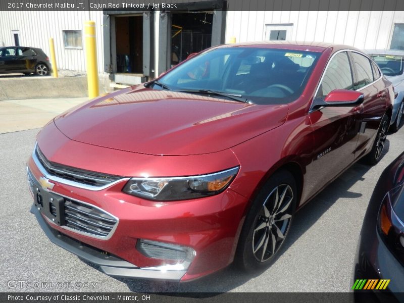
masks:
[(313, 100), (310, 113), (322, 107), (348, 107), (360, 105), (364, 102), (364, 94), (348, 89), (334, 89), (328, 95)]

